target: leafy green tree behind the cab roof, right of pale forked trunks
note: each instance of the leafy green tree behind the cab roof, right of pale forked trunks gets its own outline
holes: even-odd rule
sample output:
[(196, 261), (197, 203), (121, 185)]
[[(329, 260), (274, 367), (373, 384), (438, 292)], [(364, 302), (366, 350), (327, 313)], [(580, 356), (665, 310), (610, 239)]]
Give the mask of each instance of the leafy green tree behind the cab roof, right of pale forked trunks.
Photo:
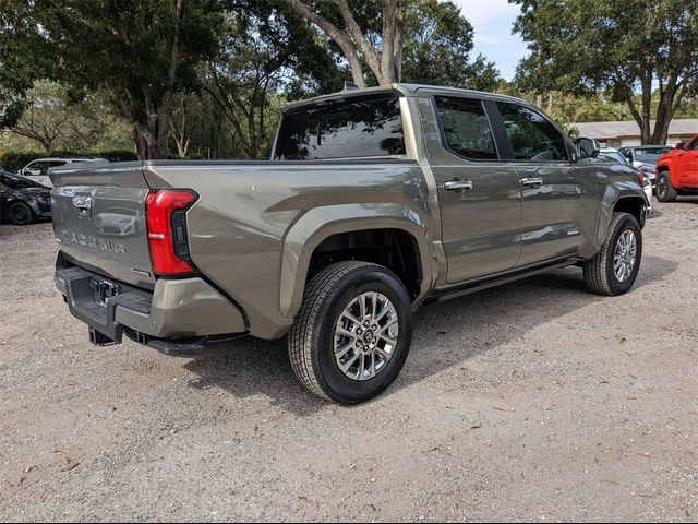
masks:
[(416, 84), (494, 91), (500, 76), (482, 55), (470, 63), (473, 28), (450, 1), (406, 3), (402, 79)]

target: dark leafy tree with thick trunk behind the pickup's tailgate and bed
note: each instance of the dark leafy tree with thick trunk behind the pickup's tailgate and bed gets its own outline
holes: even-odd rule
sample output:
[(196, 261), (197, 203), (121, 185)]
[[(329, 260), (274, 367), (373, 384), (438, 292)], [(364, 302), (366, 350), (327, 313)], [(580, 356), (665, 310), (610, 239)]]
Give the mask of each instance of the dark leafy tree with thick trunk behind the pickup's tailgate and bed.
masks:
[(168, 153), (172, 96), (197, 82), (213, 56), (218, 0), (53, 0), (28, 13), (53, 57), (46, 76), (104, 90), (133, 122), (141, 158)]

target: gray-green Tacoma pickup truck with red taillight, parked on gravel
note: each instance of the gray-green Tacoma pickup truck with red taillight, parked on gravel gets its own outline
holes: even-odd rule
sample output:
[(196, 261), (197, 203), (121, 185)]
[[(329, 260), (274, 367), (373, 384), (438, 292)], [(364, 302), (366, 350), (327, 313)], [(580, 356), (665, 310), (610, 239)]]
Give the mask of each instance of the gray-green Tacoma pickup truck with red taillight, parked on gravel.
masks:
[(552, 267), (627, 291), (647, 200), (530, 104), (395, 84), (282, 109), (270, 160), (53, 171), (56, 284), (95, 344), (286, 337), (339, 403), (395, 380), (423, 303)]

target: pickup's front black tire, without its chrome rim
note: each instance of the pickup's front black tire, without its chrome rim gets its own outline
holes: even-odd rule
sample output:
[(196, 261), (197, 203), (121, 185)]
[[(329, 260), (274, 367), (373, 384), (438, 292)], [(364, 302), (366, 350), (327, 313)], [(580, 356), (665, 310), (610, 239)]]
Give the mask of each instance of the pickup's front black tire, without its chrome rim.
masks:
[[(636, 239), (636, 260), (627, 279), (621, 281), (615, 273), (614, 257), (618, 239), (625, 231), (633, 231)], [(637, 278), (642, 260), (642, 229), (629, 213), (614, 213), (609, 225), (605, 241), (592, 259), (582, 265), (585, 282), (590, 291), (598, 295), (617, 296), (626, 293)]]

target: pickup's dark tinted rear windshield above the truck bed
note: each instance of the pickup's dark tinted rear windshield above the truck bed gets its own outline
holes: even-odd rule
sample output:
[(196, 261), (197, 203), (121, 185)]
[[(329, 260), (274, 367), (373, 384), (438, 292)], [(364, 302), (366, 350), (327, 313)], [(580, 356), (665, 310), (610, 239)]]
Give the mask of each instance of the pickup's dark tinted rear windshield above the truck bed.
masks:
[(274, 158), (312, 160), (404, 154), (399, 100), (387, 94), (291, 109), (281, 121)]

